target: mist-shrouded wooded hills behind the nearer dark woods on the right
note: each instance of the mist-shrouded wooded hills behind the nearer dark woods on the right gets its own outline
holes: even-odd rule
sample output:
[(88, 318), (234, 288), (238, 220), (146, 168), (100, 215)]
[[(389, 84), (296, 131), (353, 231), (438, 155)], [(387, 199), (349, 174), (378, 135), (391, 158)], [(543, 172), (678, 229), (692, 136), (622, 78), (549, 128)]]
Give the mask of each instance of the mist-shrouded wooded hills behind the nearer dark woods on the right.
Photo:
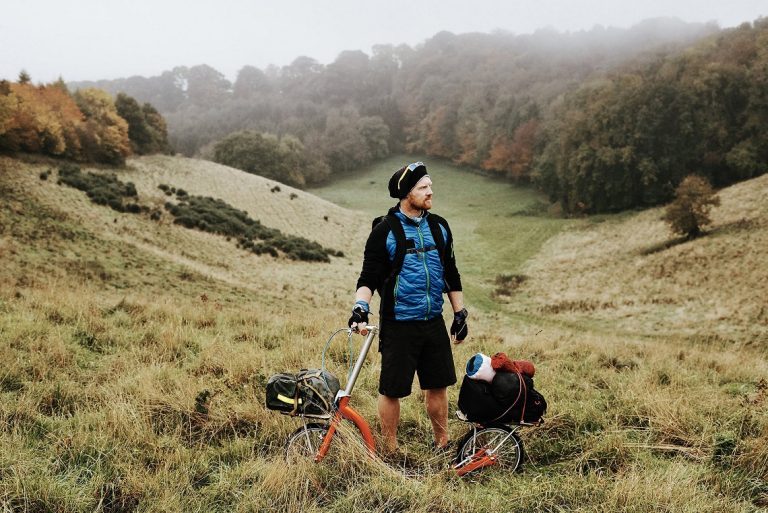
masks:
[[(499, 130), (542, 116), (554, 97), (593, 73), (649, 52), (674, 51), (716, 31), (712, 25), (656, 19), (630, 29), (567, 34), (441, 32), (415, 48), (381, 44), (370, 56), (345, 51), (328, 65), (300, 56), (282, 68), (245, 66), (234, 83), (200, 65), (69, 86), (122, 91), (150, 102), (166, 117), (171, 142), (185, 155), (207, 156), (206, 145), (251, 129), (299, 137), (333, 173), (406, 146), (487, 167), (483, 162)], [(488, 133), (478, 133), (478, 123), (489, 125)], [(461, 147), (468, 130), (473, 139), (487, 141)], [(455, 141), (438, 142), (444, 133)]]

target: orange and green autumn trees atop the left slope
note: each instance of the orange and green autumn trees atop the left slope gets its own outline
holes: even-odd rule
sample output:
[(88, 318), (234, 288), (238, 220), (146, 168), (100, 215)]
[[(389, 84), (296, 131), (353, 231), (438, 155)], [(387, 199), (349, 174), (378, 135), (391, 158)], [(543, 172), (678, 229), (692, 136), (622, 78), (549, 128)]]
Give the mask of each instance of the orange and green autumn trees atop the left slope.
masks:
[(120, 165), (131, 154), (169, 152), (165, 120), (149, 103), (63, 80), (33, 85), (26, 72), (0, 81), (0, 152)]

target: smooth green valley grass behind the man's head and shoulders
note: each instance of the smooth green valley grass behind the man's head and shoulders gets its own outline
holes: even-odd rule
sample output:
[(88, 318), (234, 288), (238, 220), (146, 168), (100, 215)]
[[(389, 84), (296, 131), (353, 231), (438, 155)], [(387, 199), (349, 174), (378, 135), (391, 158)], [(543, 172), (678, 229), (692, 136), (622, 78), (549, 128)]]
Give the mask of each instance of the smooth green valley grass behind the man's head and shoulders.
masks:
[[(363, 212), (360, 222), (370, 223), (396, 203), (387, 192), (389, 177), (414, 159), (391, 157), (310, 192)], [(547, 215), (546, 198), (531, 188), (444, 161), (422, 160), (427, 163), (435, 191), (432, 211), (445, 217), (454, 233), (468, 304), (498, 311), (499, 305), (492, 299), (497, 277), (519, 274), (544, 242), (574, 222)]]

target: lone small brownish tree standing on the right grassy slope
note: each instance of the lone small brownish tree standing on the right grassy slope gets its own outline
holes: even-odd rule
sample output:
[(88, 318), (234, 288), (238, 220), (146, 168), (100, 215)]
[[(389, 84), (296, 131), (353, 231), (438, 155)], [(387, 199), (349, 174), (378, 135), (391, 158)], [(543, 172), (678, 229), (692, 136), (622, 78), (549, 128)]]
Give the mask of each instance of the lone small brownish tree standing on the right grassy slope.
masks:
[(709, 211), (720, 205), (706, 178), (686, 176), (675, 190), (675, 200), (667, 206), (664, 220), (672, 231), (693, 239), (702, 235), (701, 228), (712, 222)]

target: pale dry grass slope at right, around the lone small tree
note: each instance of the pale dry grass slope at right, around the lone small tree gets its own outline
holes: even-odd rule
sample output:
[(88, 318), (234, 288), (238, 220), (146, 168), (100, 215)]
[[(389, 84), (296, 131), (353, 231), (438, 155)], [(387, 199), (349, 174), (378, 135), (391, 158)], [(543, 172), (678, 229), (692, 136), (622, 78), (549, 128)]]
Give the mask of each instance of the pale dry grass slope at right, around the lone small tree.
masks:
[(525, 311), (659, 339), (765, 349), (768, 177), (719, 196), (709, 235), (690, 242), (673, 240), (661, 209), (551, 239), (525, 266)]

